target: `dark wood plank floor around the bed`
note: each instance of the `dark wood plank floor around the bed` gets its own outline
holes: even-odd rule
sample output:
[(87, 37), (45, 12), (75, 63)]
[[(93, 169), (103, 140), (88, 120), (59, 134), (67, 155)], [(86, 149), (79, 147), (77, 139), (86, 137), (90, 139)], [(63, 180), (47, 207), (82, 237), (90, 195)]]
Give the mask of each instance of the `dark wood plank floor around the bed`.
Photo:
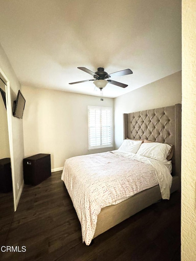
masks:
[(37, 186), (25, 185), (3, 245), (26, 252), (0, 251), (0, 260), (180, 260), (180, 193), (161, 200), (82, 244), (81, 226), (60, 179), (61, 171)]

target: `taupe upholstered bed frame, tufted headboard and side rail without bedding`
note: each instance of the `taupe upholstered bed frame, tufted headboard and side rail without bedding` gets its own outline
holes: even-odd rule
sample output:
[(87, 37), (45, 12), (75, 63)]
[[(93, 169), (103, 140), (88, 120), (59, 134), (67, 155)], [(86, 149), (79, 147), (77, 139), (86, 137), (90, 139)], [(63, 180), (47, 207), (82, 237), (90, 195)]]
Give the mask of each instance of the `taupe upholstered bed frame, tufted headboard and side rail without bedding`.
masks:
[[(170, 192), (180, 190), (181, 174), (181, 104), (123, 114), (124, 139), (146, 139), (172, 144), (172, 185)], [(117, 204), (101, 209), (94, 238), (138, 211), (160, 200), (159, 185), (146, 189)]]

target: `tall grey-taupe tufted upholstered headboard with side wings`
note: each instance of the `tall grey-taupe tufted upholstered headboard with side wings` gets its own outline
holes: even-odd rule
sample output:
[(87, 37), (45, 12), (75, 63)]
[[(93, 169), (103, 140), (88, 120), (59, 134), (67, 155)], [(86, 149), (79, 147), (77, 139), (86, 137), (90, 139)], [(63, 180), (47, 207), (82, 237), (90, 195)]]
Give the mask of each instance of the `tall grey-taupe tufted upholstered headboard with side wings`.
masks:
[(172, 144), (172, 176), (181, 173), (181, 104), (123, 114), (124, 139)]

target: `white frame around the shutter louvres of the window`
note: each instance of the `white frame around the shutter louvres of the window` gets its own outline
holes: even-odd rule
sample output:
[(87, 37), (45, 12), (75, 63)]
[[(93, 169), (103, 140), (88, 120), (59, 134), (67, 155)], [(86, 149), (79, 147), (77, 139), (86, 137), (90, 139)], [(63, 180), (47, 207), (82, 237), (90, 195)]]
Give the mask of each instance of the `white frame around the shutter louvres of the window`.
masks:
[[(97, 145), (97, 146), (90, 146), (90, 117), (89, 117), (89, 110), (90, 109), (99, 109), (100, 111), (101, 110), (110, 110), (110, 115), (111, 115), (111, 119), (110, 119), (110, 144), (107, 144), (107, 145)], [(112, 144), (112, 140), (113, 140), (113, 137), (112, 137), (112, 108), (111, 107), (101, 107), (101, 106), (88, 106), (88, 136), (89, 136), (89, 150), (96, 150), (96, 149), (101, 149), (101, 148), (109, 148), (109, 147), (113, 147), (113, 144)], [(101, 142), (102, 143), (102, 125), (101, 125), (101, 117), (100, 117), (100, 139), (101, 139)]]

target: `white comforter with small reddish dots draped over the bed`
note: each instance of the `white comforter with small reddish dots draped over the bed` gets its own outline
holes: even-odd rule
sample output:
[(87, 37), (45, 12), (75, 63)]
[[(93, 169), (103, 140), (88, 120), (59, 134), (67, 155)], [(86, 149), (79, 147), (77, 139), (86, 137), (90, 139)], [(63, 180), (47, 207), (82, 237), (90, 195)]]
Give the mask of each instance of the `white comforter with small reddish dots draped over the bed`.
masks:
[[(150, 160), (146, 164), (145, 157), (122, 154), (118, 151), (104, 152), (69, 158), (65, 162), (61, 179), (74, 204), (81, 223), (83, 242), (87, 245), (94, 236), (97, 215), (102, 207), (119, 203), (159, 182), (168, 187), (163, 184), (164, 178), (158, 173), (159, 168), (153, 166)], [(136, 160), (131, 159), (134, 157)], [(162, 168), (170, 175), (165, 166)]]

